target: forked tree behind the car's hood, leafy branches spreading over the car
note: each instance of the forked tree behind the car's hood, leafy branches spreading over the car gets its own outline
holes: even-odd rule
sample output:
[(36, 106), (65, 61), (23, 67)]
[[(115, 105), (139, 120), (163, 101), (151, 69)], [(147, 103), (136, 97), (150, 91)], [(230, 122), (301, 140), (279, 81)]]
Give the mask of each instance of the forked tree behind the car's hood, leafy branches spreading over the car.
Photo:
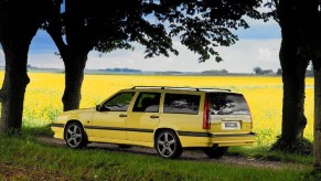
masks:
[(199, 61), (214, 55), (220, 62), (214, 47), (235, 43), (232, 30), (248, 28), (245, 17), (260, 18), (259, 6), (260, 0), (65, 0), (65, 11), (57, 6), (44, 26), (65, 65), (64, 110), (79, 107), (89, 51), (108, 53), (137, 42), (146, 46), (147, 57), (169, 56), (169, 52), (178, 54), (172, 38), (179, 38), (201, 55)]

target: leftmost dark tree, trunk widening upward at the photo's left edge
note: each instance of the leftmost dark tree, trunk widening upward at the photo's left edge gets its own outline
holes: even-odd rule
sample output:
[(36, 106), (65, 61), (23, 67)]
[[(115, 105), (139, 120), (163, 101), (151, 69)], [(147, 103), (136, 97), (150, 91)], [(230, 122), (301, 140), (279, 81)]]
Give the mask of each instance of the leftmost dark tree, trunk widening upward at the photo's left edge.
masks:
[(49, 13), (50, 0), (0, 0), (0, 43), (6, 73), (0, 92), (1, 132), (21, 128), (29, 45)]

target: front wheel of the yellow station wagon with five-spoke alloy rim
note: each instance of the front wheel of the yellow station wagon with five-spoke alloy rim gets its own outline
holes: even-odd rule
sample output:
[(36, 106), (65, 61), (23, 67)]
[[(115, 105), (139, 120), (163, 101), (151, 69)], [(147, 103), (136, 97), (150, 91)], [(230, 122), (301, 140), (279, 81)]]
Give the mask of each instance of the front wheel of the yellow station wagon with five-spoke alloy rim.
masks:
[(83, 148), (87, 145), (86, 134), (78, 123), (71, 123), (64, 132), (65, 142), (72, 148)]

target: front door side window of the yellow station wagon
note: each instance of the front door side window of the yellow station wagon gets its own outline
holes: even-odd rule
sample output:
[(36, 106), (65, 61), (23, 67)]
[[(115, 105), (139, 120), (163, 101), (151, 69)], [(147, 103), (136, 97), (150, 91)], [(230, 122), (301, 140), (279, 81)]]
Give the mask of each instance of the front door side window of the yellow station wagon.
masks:
[(133, 92), (119, 93), (103, 105), (103, 110), (107, 111), (127, 111), (133, 97)]

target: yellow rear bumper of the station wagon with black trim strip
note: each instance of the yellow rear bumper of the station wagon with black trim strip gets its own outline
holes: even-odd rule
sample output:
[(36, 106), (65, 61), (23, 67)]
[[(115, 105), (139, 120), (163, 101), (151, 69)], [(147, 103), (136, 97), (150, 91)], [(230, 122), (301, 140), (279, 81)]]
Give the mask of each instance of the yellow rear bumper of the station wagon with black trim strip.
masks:
[(256, 141), (256, 134), (226, 134), (178, 131), (182, 147), (231, 147), (250, 146)]

